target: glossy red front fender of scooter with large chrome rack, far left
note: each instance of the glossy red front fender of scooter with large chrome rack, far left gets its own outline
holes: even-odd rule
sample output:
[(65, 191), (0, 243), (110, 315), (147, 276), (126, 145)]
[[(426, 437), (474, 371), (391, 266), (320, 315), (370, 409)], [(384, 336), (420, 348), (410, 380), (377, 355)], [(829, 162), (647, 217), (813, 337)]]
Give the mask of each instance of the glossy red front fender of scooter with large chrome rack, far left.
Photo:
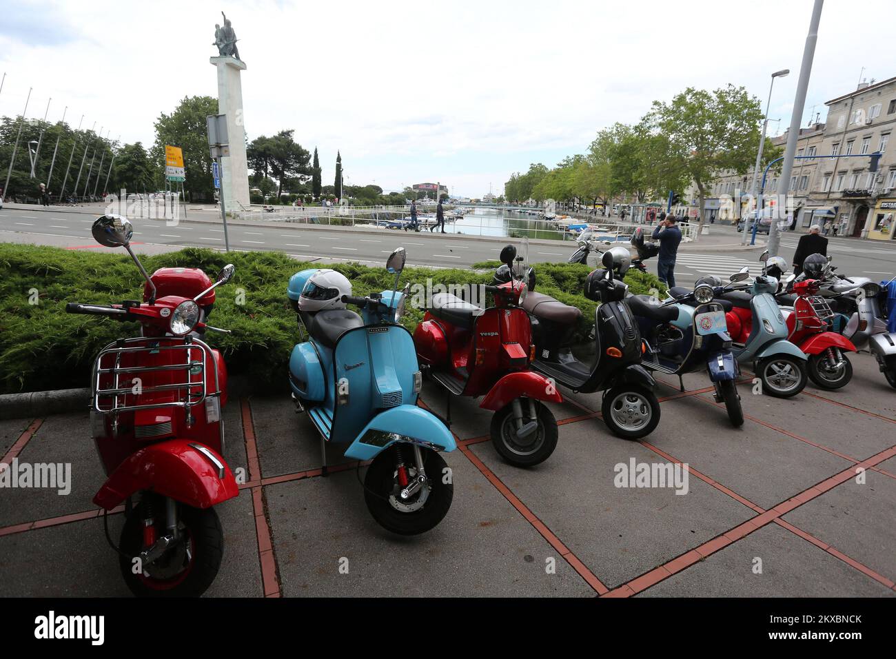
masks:
[(224, 458), (190, 439), (168, 439), (130, 455), (99, 488), (93, 503), (111, 510), (140, 490), (194, 508), (211, 507), (239, 493)]

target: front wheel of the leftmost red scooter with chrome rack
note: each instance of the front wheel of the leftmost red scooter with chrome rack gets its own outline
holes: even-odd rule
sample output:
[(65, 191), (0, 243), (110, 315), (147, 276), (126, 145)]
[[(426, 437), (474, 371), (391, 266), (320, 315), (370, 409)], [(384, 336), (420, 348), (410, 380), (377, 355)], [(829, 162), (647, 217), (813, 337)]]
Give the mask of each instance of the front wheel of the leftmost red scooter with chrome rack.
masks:
[[(156, 495), (147, 495), (156, 497)], [(161, 499), (161, 498), (157, 498)], [(155, 501), (153, 501), (155, 503)], [(168, 533), (165, 507), (149, 513), (147, 500), (125, 519), (118, 549), (118, 567), (127, 587), (138, 597), (199, 597), (215, 580), (224, 554), (224, 532), (214, 508), (194, 508), (177, 504), (181, 540), (148, 565), (140, 562), (143, 548), (143, 521), (152, 516), (156, 537)]]

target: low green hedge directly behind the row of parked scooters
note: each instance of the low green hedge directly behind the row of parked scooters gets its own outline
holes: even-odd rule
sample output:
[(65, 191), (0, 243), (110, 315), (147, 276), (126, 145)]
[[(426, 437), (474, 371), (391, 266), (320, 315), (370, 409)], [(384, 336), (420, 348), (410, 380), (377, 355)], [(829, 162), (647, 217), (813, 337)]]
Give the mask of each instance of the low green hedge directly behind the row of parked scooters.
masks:
[[(233, 280), (218, 290), (211, 325), (232, 334), (206, 334), (220, 348), (230, 373), (245, 374), (257, 390), (286, 386), (289, 352), (298, 340), (297, 319), (286, 296), (289, 276), (320, 264), (298, 262), (279, 252), (231, 252), (190, 247), (159, 256), (142, 256), (152, 273), (159, 267), (200, 267), (211, 277), (226, 263), (237, 266)], [(384, 260), (383, 260), (384, 264)], [(392, 288), (384, 267), (327, 265), (345, 274), (355, 295)], [(594, 302), (581, 292), (589, 268), (581, 264), (538, 264), (538, 290), (582, 308), (581, 333), (594, 320)], [(404, 283), (479, 284), (491, 273), (472, 270), (409, 268)], [(652, 275), (626, 277), (633, 292), (658, 287)], [(237, 290), (245, 304), (237, 305)], [(38, 304), (32, 304), (34, 300)], [(117, 303), (142, 299), (142, 278), (124, 253), (99, 254), (58, 247), (0, 243), (0, 393), (88, 386), (97, 352), (121, 336), (137, 332), (134, 323), (65, 313), (66, 302)], [(413, 329), (423, 311), (410, 308), (403, 322)]]

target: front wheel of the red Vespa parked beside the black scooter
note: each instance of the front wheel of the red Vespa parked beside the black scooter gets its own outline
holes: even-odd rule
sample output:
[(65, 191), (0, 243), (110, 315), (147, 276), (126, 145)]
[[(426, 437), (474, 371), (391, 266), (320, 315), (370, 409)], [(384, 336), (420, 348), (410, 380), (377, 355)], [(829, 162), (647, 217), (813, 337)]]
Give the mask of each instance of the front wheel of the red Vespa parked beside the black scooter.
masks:
[[(492, 417), (492, 444), (501, 457), (513, 466), (531, 467), (543, 463), (554, 453), (557, 446), (557, 421), (544, 403), (526, 399), (520, 403), (523, 412), (522, 429), (517, 427), (513, 403), (507, 403)], [(534, 419), (529, 416), (530, 403), (535, 406)], [(534, 423), (535, 427), (527, 428), (530, 423)]]

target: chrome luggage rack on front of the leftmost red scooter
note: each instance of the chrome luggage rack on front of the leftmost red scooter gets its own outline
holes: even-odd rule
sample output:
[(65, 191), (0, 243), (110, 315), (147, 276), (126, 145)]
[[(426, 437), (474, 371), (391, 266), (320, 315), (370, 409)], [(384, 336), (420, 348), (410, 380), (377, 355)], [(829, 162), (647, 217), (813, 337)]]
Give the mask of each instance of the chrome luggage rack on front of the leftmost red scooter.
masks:
[[(158, 351), (184, 351), (184, 360), (180, 363), (165, 366), (122, 366), (122, 357), (126, 354), (153, 353)], [(196, 354), (198, 353), (198, 354)], [(165, 407), (180, 407), (186, 412), (187, 422), (190, 422), (192, 413), (190, 408), (203, 403), (207, 398), (220, 396), (220, 380), (218, 362), (211, 360), (214, 368), (215, 391), (209, 392), (205, 386), (205, 369), (207, 356), (211, 356), (211, 348), (192, 336), (177, 337), (134, 337), (131, 339), (118, 339), (109, 343), (99, 351), (97, 359), (93, 362), (93, 377), (91, 382), (91, 400), (93, 410), (102, 414), (117, 415), (119, 412), (134, 412), (137, 410), (152, 410)], [(112, 361), (109, 364), (109, 360)], [(142, 386), (140, 394), (134, 394), (133, 378), (142, 373), (158, 373), (161, 371), (182, 371), (185, 373), (183, 382), (175, 382), (168, 385)], [(100, 379), (104, 376), (113, 378), (113, 385), (108, 388), (100, 386)], [(193, 377), (199, 376), (197, 380)], [(173, 392), (177, 400), (165, 403), (128, 404), (128, 396), (140, 397), (155, 392)]]

